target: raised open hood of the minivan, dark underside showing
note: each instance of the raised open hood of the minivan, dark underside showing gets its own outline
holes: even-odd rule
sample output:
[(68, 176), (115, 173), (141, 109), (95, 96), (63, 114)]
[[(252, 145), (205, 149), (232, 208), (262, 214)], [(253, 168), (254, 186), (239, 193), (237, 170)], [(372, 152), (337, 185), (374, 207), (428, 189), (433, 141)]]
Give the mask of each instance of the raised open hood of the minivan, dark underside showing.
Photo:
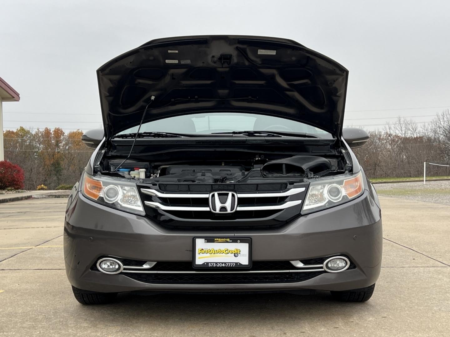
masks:
[[(97, 71), (105, 135), (204, 111), (254, 112), (340, 138), (348, 71), (293, 40), (185, 36), (152, 40)], [(161, 130), (164, 131), (164, 130)]]

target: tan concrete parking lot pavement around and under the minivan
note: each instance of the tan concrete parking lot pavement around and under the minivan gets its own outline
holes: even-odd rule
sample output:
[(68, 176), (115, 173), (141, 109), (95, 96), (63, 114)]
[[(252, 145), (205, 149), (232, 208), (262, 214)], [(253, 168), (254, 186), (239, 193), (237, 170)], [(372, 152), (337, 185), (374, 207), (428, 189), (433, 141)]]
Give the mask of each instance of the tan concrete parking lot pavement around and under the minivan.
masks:
[(450, 206), (380, 200), (383, 268), (368, 302), (125, 293), (103, 306), (82, 306), (67, 282), (65, 199), (0, 204), (0, 336), (449, 336)]

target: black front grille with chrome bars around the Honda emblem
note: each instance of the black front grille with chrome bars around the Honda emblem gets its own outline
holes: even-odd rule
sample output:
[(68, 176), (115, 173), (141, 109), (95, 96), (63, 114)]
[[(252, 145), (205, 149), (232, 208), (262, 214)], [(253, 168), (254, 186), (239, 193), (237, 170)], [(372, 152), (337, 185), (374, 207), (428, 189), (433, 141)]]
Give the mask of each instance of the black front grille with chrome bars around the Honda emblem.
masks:
[[(196, 231), (284, 226), (300, 216), (308, 186), (308, 182), (155, 183), (138, 184), (138, 189), (148, 219), (168, 229)], [(215, 192), (235, 193), (232, 212), (211, 210), (209, 196)], [(221, 200), (220, 204), (225, 202)], [(212, 208), (216, 210), (215, 204)]]

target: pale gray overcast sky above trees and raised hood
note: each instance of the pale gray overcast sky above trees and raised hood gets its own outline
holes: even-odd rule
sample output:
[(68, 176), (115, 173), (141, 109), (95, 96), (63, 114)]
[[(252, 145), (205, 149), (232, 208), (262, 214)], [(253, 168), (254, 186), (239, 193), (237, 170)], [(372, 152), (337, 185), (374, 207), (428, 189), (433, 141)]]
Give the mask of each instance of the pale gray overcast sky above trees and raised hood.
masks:
[(346, 124), (450, 107), (449, 0), (1, 0), (0, 32), (0, 77), (21, 97), (3, 104), (5, 129), (101, 127), (96, 69), (181, 35), (278, 36), (335, 59), (350, 71)]

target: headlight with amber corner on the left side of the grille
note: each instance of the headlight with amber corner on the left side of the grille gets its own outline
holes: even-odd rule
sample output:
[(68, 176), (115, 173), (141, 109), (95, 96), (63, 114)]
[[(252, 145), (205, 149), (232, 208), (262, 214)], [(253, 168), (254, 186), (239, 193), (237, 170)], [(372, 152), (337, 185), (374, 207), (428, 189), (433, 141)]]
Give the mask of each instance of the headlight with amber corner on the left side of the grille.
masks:
[(100, 204), (122, 211), (144, 215), (136, 184), (109, 177), (93, 177), (84, 173), (83, 195)]

